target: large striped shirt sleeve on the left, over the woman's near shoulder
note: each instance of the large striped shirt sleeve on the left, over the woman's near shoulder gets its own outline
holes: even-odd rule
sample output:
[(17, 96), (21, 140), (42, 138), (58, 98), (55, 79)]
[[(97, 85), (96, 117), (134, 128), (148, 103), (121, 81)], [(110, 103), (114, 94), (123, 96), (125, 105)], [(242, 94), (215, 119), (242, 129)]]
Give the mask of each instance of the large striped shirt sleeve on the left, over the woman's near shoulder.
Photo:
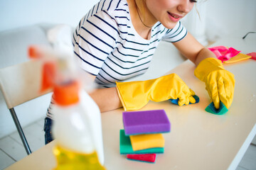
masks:
[(85, 16), (74, 33), (75, 62), (97, 76), (107, 56), (116, 47), (118, 36), (117, 23), (106, 11)]

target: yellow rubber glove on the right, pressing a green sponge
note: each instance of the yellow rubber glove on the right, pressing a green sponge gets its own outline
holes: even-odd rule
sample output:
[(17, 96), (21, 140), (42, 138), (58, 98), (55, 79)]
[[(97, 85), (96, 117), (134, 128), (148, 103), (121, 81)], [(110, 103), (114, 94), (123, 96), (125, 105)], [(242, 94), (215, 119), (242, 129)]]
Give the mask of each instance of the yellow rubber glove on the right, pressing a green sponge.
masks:
[(215, 108), (220, 108), (220, 101), (229, 108), (234, 96), (234, 75), (224, 69), (220, 60), (206, 58), (196, 67), (195, 76), (206, 83), (206, 90)]

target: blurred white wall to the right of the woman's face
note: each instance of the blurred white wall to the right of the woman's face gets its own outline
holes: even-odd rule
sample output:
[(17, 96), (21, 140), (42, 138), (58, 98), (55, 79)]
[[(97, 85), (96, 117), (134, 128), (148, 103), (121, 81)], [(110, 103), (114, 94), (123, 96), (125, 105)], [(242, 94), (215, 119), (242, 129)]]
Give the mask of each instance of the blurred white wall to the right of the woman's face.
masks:
[[(201, 19), (193, 8), (183, 19), (183, 25), (200, 42), (204, 38), (208, 41), (242, 38), (247, 32), (256, 31), (255, 0), (198, 0), (196, 5)], [(256, 34), (250, 36), (256, 38)]]

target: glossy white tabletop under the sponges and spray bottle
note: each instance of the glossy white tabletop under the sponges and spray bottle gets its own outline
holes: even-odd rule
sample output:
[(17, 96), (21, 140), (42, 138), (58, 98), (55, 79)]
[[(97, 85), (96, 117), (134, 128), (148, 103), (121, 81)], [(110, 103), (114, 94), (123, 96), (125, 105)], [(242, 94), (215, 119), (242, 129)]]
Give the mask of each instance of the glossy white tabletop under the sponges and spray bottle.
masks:
[[(256, 40), (223, 39), (212, 46), (226, 45), (255, 52)], [(119, 154), (119, 130), (123, 129), (122, 111), (102, 113), (102, 131), (107, 169), (235, 169), (256, 134), (256, 61), (225, 64), (235, 74), (235, 96), (228, 113), (213, 115), (204, 111), (210, 98), (203, 82), (193, 75), (195, 66), (186, 61), (166, 73), (178, 74), (196, 92), (200, 102), (176, 106), (169, 101), (149, 102), (142, 111), (164, 109), (171, 121), (171, 132), (164, 134), (164, 154), (157, 154), (155, 164), (133, 162)], [(54, 142), (39, 149), (7, 169), (52, 169)]]

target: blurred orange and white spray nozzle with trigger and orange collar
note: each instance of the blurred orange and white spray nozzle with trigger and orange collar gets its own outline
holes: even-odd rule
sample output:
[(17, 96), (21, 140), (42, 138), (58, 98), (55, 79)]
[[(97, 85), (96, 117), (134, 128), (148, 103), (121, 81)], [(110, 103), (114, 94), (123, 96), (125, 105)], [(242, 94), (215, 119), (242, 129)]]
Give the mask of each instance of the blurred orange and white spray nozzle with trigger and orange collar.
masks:
[(53, 88), (53, 99), (60, 106), (79, 101), (80, 82), (74, 76), (72, 60), (68, 55), (35, 45), (28, 47), (28, 55), (42, 62), (41, 92)]

